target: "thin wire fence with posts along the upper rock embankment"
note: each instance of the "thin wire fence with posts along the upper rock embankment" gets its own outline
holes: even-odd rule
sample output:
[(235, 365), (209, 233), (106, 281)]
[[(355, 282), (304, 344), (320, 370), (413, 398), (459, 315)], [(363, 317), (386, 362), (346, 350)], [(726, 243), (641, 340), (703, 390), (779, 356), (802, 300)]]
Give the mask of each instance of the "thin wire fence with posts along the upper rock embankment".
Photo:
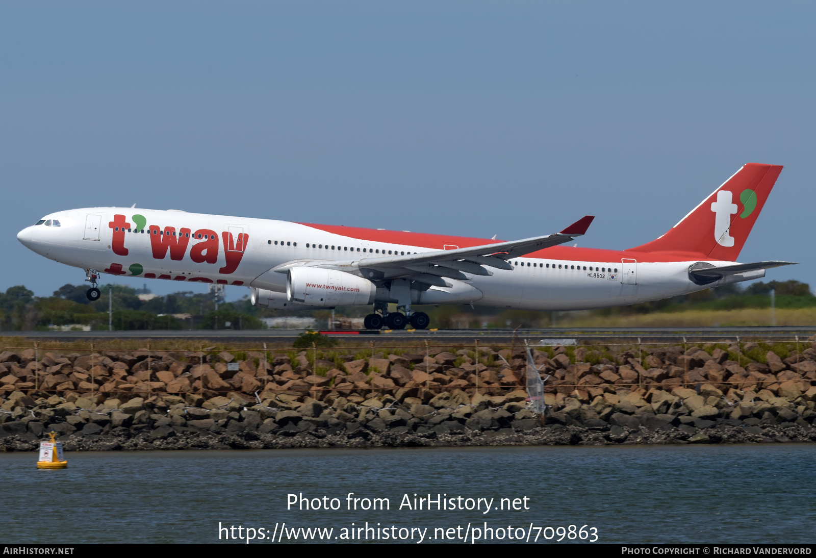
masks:
[[(20, 339), (22, 341), (22, 339)], [(555, 340), (553, 340), (555, 341)], [(736, 337), (733, 341), (723, 341), (720, 343), (706, 343), (704, 346), (710, 351), (716, 348), (723, 350), (730, 350), (730, 355), (736, 357), (737, 364), (742, 367), (751, 362), (755, 362), (752, 358), (745, 354), (743, 348), (747, 348), (749, 343), (751, 348), (759, 348), (765, 350), (768, 348), (773, 351), (774, 348), (785, 345), (783, 354), (792, 353), (796, 356), (796, 361), (791, 364), (794, 368), (799, 368), (800, 361), (814, 361), (816, 353), (813, 355), (803, 355), (803, 351), (807, 348), (812, 348), (811, 343), (813, 339), (800, 339), (800, 336), (795, 335), (792, 339), (768, 339), (768, 340), (752, 340), (746, 341)], [(683, 353), (688, 352), (690, 347), (695, 345), (692, 343), (575, 343), (569, 346), (558, 345), (556, 343), (540, 345), (527, 339), (514, 338), (512, 343), (497, 344), (490, 343), (490, 345), (480, 344), (479, 339), (474, 339), (473, 343), (446, 343), (444, 341), (431, 342), (430, 340), (421, 340), (414, 343), (378, 343), (375, 340), (369, 340), (367, 343), (352, 343), (346, 345), (338, 345), (335, 347), (317, 347), (317, 343), (313, 343), (312, 348), (295, 348), (295, 347), (268, 347), (268, 343), (259, 343), (257, 346), (250, 345), (249, 347), (230, 348), (230, 347), (208, 347), (200, 346), (197, 349), (180, 349), (180, 348), (152, 348), (153, 343), (147, 343), (146, 346), (139, 349), (122, 349), (113, 343), (106, 346), (104, 343), (86, 343), (86, 347), (78, 346), (78, 343), (71, 343), (70, 347), (66, 347), (60, 343), (15, 343), (0, 347), (0, 352), (13, 352), (18, 361), (14, 361), (14, 356), (6, 356), (6, 362), (0, 363), (0, 368), (5, 371), (0, 371), (0, 396), (8, 395), (10, 392), (22, 391), (28, 393), (39, 393), (41, 395), (47, 394), (67, 394), (69, 392), (77, 393), (80, 396), (87, 396), (89, 394), (102, 395), (106, 397), (132, 397), (132, 396), (186, 396), (187, 394), (201, 395), (201, 396), (216, 396), (228, 392), (246, 393), (252, 399), (257, 397), (258, 393), (268, 394), (272, 396), (277, 393), (290, 393), (292, 395), (311, 395), (315, 399), (322, 399), (330, 392), (338, 392), (339, 394), (357, 394), (361, 396), (375, 396), (384, 392), (397, 392), (398, 390), (430, 390), (432, 392), (446, 392), (460, 389), (469, 392), (482, 392), (485, 394), (499, 395), (501, 393), (513, 392), (516, 390), (523, 390), (528, 392), (531, 399), (543, 400), (543, 393), (570, 393), (575, 391), (586, 392), (587, 395), (597, 395), (602, 392), (619, 389), (661, 389), (670, 391), (676, 387), (694, 388), (699, 390), (702, 383), (712, 383), (716, 387), (736, 389), (753, 389), (761, 390), (766, 387), (772, 387), (774, 383), (780, 383), (772, 374), (756, 373), (750, 378), (740, 376), (735, 379), (695, 379), (689, 381), (687, 378), (690, 372), (688, 368), (688, 360), (685, 360), (686, 368), (684, 375), (669, 383), (658, 383), (650, 381), (648, 374), (643, 374), (643, 371), (637, 370), (637, 379), (628, 379), (621, 383), (593, 383), (586, 381), (588, 375), (597, 378), (596, 374), (602, 372), (601, 369), (611, 367), (612, 370), (619, 368), (619, 366), (627, 365), (626, 358), (619, 358), (622, 364), (610, 365), (601, 364), (597, 359), (592, 361), (584, 361), (586, 358), (584, 354), (581, 356), (580, 349), (585, 349), (589, 352), (602, 352), (606, 355), (612, 355), (617, 352), (617, 356), (623, 353), (632, 353), (637, 356), (636, 361), (643, 362), (644, 356), (649, 355), (655, 350), (661, 348), (682, 348)], [(816, 343), (813, 343), (816, 347)], [(537, 356), (532, 353), (527, 354), (527, 347), (532, 350), (538, 350)], [(734, 347), (736, 350), (734, 351)], [(507, 361), (503, 356), (499, 356), (497, 362), (494, 356), (498, 356), (497, 352), (501, 349), (508, 349), (507, 356), (510, 361)], [(442, 365), (437, 363), (437, 356), (440, 352), (462, 352), (466, 351), (465, 355), (455, 355), (456, 358), (461, 357), (462, 362), (459, 366), (453, 366), (454, 361), (447, 357), (446, 362), (450, 364), (447, 368), (442, 368)], [(747, 350), (747, 349), (746, 349)], [(47, 354), (48, 353), (48, 354)], [(424, 377), (419, 376), (419, 380), (411, 379), (406, 382), (392, 382), (388, 385), (377, 385), (377, 378), (385, 376), (385, 374), (371, 374), (371, 371), (366, 375), (365, 380), (358, 379), (356, 381), (348, 381), (347, 378), (353, 374), (346, 374), (348, 370), (344, 371), (344, 365), (348, 361), (369, 360), (376, 357), (378, 353), (383, 353), (385, 359), (388, 359), (388, 354), (396, 355), (397, 357), (403, 355), (410, 355), (410, 363), (406, 366), (412, 372), (419, 370), (424, 372)], [(595, 366), (596, 370), (583, 370), (584, 381), (577, 378), (575, 374), (569, 376), (569, 365), (566, 365), (565, 377), (556, 378), (554, 375), (558, 369), (552, 366), (552, 362), (540, 361), (540, 357), (544, 356), (550, 359), (557, 354), (565, 354), (570, 359), (570, 365), (586, 365)], [(72, 356), (73, 361), (65, 356)], [(280, 365), (273, 365), (277, 356), (286, 356), (290, 364), (290, 377), (282, 382), (279, 374), (277, 374), (277, 367)], [(612, 355), (614, 356), (614, 355)], [(756, 356), (756, 355), (755, 355)], [(0, 355), (2, 357), (2, 355)], [(85, 358), (82, 358), (85, 357)], [(88, 358), (90, 357), (90, 358)], [(301, 358), (302, 357), (302, 358)], [(82, 361), (80, 360), (82, 358)], [(128, 361), (131, 364), (122, 362)], [(328, 360), (331, 359), (331, 360)], [(402, 361), (399, 358), (394, 359), (397, 364)], [(469, 362), (466, 362), (469, 360)], [(23, 362), (26, 361), (26, 362)], [(322, 362), (320, 362), (322, 361)], [(328, 368), (326, 362), (332, 366)], [(176, 364), (175, 369), (173, 365)], [(563, 363), (562, 363), (563, 364)], [(208, 365), (208, 366), (206, 366)], [(431, 372), (432, 366), (440, 367), (438, 372)], [(24, 366), (24, 368), (21, 368)], [(300, 374), (294, 374), (294, 370), (300, 367)], [(14, 370), (16, 367), (17, 370)], [(225, 368), (224, 368), (225, 367)], [(374, 366), (370, 365), (371, 370)], [(388, 367), (388, 366), (386, 366)], [(481, 369), (480, 369), (481, 367)], [(62, 374), (62, 371), (68, 371), (69, 374)], [(423, 370), (424, 368), (424, 370)], [(464, 374), (454, 380), (450, 380), (450, 375), (446, 372), (450, 368), (457, 368), (463, 370)], [(583, 366), (586, 368), (586, 366)], [(138, 369), (138, 370), (136, 370)], [(332, 373), (332, 370), (337, 369), (341, 374), (344, 374), (341, 381), (336, 382), (335, 379), (340, 377), (340, 374)], [(481, 373), (485, 370), (493, 369), (498, 372), (512, 371), (512, 379), (506, 382), (499, 382), (497, 385), (494, 382), (480, 382)], [(542, 370), (544, 369), (544, 370)], [(21, 372), (21, 370), (27, 370)], [(81, 370), (81, 371), (80, 371)], [(219, 371), (220, 370), (220, 371)], [(649, 370), (643, 368), (643, 370)], [(208, 385), (202, 377), (212, 371), (222, 380), (233, 379), (236, 376), (252, 378), (246, 383), (223, 382), (218, 383), (218, 388), (213, 389)], [(281, 373), (286, 370), (282, 370)], [(386, 370), (382, 370), (386, 372)], [(594, 374), (593, 374), (594, 372)], [(165, 374), (166, 373), (166, 374)], [(54, 383), (56, 375), (62, 374), (67, 376), (59, 385)], [(73, 374), (73, 377), (72, 375)], [(329, 377), (329, 374), (331, 376)], [(441, 374), (434, 377), (433, 374)], [(537, 376), (538, 382), (530, 378), (530, 374)], [(805, 374), (800, 374), (800, 378), (795, 379), (799, 383), (800, 390), (805, 392), (809, 387), (814, 386), (816, 381), (816, 374), (809, 374), (813, 377), (806, 377)], [(16, 379), (11, 379), (14, 376)], [(276, 377), (277, 376), (277, 377)], [(296, 377), (292, 377), (296, 376)], [(33, 382), (29, 381), (33, 377)], [(51, 377), (49, 379), (49, 377)], [(208, 376), (212, 380), (212, 374)], [(385, 376), (387, 377), (387, 376)], [(184, 378), (185, 380), (180, 380)], [(447, 378), (446, 383), (440, 380)], [(61, 379), (61, 378), (60, 378)], [(134, 379), (136, 380), (134, 382)], [(468, 381), (474, 379), (475, 381)], [(572, 379), (572, 381), (570, 381)], [(7, 383), (3, 383), (8, 380)], [(20, 381), (22, 380), (22, 381)], [(199, 382), (197, 384), (196, 382)], [(69, 383), (66, 383), (69, 382)], [(215, 382), (211, 382), (215, 383)], [(386, 382), (387, 384), (387, 382)], [(535, 393), (531, 393), (532, 389)], [(584, 394), (578, 393), (578, 396)]]

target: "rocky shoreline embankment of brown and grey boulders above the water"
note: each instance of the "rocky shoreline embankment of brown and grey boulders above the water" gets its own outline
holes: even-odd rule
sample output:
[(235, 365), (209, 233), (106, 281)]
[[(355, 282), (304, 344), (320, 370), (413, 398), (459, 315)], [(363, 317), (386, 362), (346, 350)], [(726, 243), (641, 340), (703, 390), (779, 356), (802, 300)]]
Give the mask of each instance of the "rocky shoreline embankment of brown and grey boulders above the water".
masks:
[(543, 415), (521, 348), (7, 351), (0, 449), (33, 451), (50, 431), (68, 451), (809, 442), (809, 343), (534, 350)]

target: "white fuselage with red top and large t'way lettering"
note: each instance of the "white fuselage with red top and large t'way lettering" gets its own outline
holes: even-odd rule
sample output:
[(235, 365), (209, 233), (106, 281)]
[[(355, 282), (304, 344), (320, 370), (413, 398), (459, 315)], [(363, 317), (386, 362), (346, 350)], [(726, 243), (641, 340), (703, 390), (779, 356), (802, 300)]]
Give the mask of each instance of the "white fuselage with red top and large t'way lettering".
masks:
[[(87, 208), (59, 211), (18, 234), (31, 250), (82, 269), (171, 281), (256, 286), (286, 292), (286, 275), (271, 268), (296, 259), (364, 260), (384, 254), (442, 250), (446, 237), (371, 229), (341, 234), (338, 227), (273, 219), (204, 215), (175, 210)], [(60, 226), (53, 226), (53, 220)], [(137, 232), (138, 231), (138, 232)], [(395, 237), (400, 242), (394, 242)], [(366, 237), (366, 239), (361, 238)], [(379, 241), (378, 238), (382, 238)], [(451, 244), (463, 243), (452, 237)], [(472, 246), (490, 241), (472, 239)], [(316, 247), (317, 246), (317, 247)], [(432, 287), (438, 303), (478, 303), (498, 308), (577, 310), (664, 299), (698, 286), (688, 270), (697, 259), (660, 258), (625, 250), (556, 246), (508, 260), (513, 270), (447, 280)], [(712, 261), (715, 265), (727, 262)]]

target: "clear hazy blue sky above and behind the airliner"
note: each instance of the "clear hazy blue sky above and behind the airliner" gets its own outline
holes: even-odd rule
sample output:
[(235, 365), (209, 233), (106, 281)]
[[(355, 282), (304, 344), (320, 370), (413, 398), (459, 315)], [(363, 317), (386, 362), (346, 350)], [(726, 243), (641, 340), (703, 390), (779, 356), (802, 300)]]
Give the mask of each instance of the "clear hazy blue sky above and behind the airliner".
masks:
[(767, 278), (816, 286), (814, 15), (812, 2), (3, 2), (0, 289), (82, 282), (16, 241), (54, 210), (506, 239), (591, 214), (579, 246), (627, 248), (746, 162), (785, 169), (740, 259), (801, 262)]

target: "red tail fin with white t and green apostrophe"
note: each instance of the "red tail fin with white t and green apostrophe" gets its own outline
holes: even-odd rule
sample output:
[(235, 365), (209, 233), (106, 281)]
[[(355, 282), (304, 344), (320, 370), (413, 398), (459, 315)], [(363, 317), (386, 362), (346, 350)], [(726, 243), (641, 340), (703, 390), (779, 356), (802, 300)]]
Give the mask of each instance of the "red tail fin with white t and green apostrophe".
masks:
[(629, 250), (692, 252), (736, 261), (782, 166), (748, 163), (668, 233)]

